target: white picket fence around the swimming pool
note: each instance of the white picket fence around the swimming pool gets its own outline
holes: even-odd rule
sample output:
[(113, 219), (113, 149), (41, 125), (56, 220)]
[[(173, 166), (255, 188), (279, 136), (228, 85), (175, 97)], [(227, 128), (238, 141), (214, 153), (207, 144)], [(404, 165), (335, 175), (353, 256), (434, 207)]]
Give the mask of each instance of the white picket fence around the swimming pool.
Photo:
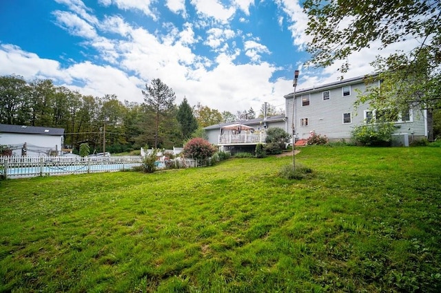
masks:
[[(179, 158), (180, 159), (180, 158)], [(141, 166), (141, 156), (110, 156), (110, 157), (0, 157), (0, 175), (6, 178), (23, 178), (52, 175), (68, 175), (82, 173), (114, 172)], [(189, 168), (197, 166), (197, 162), (189, 159), (156, 162), (157, 169)]]

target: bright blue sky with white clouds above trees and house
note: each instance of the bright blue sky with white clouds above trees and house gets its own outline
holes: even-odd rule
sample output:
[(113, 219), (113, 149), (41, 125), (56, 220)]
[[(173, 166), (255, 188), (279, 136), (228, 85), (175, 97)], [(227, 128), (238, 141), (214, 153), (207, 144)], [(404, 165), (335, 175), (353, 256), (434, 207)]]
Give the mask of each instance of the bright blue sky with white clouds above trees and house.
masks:
[[(303, 66), (306, 24), (296, 0), (0, 1), (0, 75), (130, 102), (143, 102), (141, 89), (161, 78), (177, 104), (284, 108), (295, 69), (298, 89), (340, 77), (339, 64)], [(371, 72), (376, 54), (353, 54), (345, 77)]]

